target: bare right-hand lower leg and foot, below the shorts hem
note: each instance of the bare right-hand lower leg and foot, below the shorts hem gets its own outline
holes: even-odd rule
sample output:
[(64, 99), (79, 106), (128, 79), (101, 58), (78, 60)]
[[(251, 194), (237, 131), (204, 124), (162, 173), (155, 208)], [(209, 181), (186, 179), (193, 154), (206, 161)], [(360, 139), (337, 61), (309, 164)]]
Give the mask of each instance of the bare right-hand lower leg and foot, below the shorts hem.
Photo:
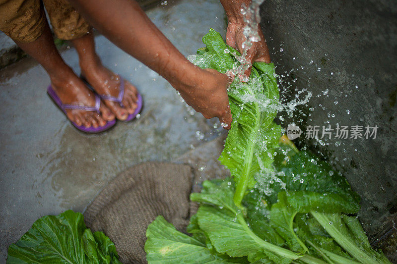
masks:
[[(95, 88), (100, 95), (116, 97), (120, 91), (120, 78), (115, 73), (104, 67), (99, 56), (95, 53), (95, 43), (92, 33), (71, 40), (80, 59), (81, 74)], [(137, 90), (130, 83), (125, 82), (123, 105), (117, 102), (103, 100), (110, 110), (120, 120), (125, 120), (136, 108)]]

